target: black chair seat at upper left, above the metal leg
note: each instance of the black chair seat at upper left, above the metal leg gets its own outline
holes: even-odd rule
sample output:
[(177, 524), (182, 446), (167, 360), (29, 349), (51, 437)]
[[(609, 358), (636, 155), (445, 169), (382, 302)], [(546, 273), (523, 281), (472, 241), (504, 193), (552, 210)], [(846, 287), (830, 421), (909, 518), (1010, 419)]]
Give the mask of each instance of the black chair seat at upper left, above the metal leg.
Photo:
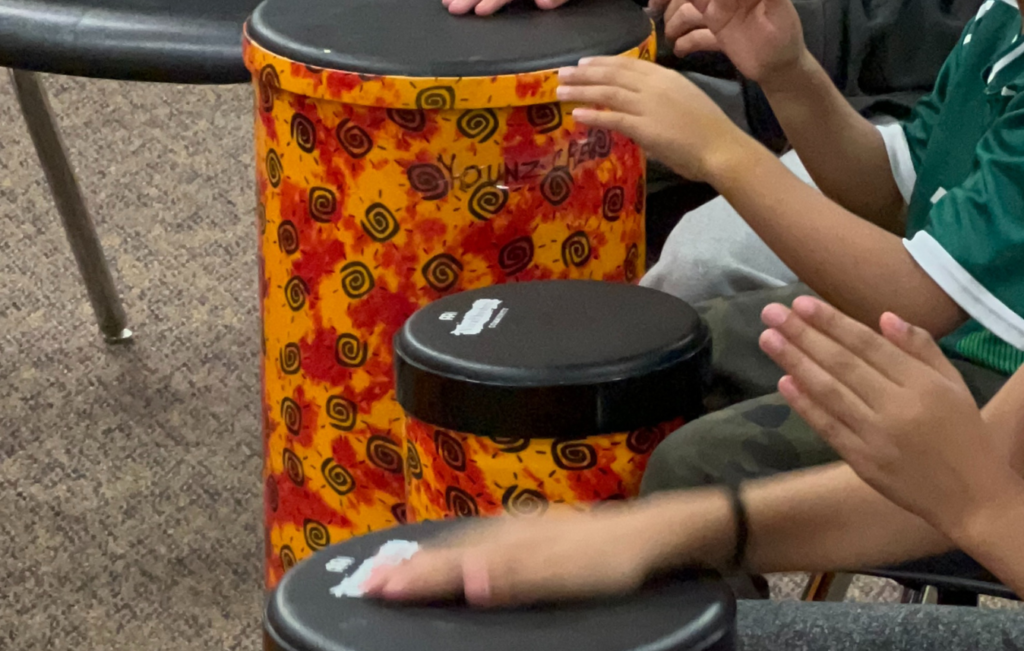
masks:
[(242, 26), (259, 0), (0, 0), (0, 67), (77, 77), (247, 81)]

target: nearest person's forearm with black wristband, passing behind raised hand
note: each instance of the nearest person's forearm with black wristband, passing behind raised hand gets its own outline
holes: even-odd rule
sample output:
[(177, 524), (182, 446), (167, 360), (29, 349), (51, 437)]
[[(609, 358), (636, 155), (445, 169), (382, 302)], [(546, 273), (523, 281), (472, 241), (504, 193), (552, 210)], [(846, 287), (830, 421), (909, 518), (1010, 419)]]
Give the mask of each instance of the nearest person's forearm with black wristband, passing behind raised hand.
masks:
[[(949, 539), (833, 465), (751, 482), (743, 487), (750, 519), (748, 567), (756, 572), (879, 567), (940, 554)], [(735, 531), (719, 490), (651, 498), (645, 529), (651, 565), (722, 567)]]

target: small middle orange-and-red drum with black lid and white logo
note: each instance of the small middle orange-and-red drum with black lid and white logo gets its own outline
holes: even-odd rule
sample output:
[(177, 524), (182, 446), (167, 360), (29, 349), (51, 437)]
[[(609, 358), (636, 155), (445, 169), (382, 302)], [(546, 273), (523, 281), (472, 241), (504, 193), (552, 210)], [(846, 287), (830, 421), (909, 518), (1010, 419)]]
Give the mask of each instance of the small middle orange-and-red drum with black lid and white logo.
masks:
[(682, 301), (605, 283), (423, 308), (395, 339), (409, 519), (636, 496), (654, 447), (702, 411), (709, 337)]

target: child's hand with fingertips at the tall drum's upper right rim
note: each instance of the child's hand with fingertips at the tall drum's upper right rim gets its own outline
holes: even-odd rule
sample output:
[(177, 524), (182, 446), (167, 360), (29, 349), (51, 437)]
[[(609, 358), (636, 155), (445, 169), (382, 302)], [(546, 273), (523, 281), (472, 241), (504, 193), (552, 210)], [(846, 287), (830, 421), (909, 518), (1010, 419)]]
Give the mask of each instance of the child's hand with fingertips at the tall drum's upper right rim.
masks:
[(584, 59), (579, 68), (562, 69), (558, 78), (560, 100), (588, 104), (573, 110), (578, 122), (633, 138), (694, 181), (711, 180), (713, 156), (754, 142), (693, 83), (649, 61)]

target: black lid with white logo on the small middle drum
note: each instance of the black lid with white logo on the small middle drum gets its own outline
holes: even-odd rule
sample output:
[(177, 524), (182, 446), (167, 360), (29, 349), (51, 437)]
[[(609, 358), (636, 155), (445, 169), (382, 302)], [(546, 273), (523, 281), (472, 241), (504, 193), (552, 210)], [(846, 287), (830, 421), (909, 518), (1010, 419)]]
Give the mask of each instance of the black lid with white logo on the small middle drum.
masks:
[(631, 285), (541, 280), (445, 297), (394, 340), (398, 402), (435, 427), (577, 438), (702, 413), (710, 334), (685, 302)]

